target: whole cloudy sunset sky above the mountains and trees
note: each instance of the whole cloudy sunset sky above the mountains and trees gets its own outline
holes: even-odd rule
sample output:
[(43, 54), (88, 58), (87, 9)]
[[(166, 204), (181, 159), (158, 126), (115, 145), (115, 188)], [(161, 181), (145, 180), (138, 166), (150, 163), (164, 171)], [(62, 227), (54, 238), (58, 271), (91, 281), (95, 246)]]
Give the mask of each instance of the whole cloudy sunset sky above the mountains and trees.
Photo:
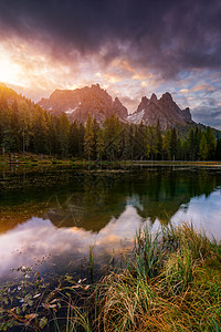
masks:
[(130, 113), (170, 92), (221, 128), (221, 1), (0, 0), (0, 82), (33, 101), (98, 83)]

